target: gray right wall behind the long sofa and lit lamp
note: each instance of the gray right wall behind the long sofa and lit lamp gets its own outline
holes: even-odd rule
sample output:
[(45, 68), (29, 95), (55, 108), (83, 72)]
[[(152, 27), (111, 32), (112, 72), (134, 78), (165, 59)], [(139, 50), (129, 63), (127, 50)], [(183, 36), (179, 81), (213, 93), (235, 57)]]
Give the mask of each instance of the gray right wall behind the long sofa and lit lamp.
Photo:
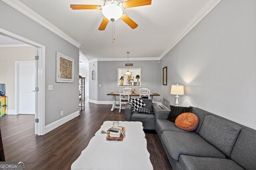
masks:
[[(165, 57), (168, 86), (184, 84), (180, 106), (195, 106), (256, 129), (256, 1), (222, 0)], [(162, 72), (161, 72), (162, 76)]]

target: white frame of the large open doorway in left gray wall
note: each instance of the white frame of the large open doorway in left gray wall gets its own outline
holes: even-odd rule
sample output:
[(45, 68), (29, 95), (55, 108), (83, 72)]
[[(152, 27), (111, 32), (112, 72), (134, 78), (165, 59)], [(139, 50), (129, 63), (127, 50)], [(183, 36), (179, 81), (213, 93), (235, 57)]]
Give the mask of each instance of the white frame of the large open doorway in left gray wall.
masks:
[(36, 49), (38, 49), (38, 67), (37, 67), (37, 86), (39, 88), (39, 91), (37, 92), (37, 98), (36, 98), (36, 110), (39, 122), (37, 124), (37, 135), (44, 135), (45, 134), (45, 46), (38, 44), (34, 41), (31, 41), (29, 39), (26, 39), (24, 37), (21, 37), (19, 35), (16, 35), (14, 33), (11, 33), (5, 29), (0, 28), (0, 34), (4, 35), (6, 37), (10, 37), (13, 39), (17, 39), (19, 41), (22, 41), (24, 43), (30, 44)]

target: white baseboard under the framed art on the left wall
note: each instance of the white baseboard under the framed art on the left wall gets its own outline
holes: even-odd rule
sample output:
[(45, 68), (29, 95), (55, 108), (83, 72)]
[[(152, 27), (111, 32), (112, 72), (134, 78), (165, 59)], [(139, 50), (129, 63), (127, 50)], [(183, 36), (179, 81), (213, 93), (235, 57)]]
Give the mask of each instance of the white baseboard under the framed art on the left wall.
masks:
[(63, 125), (64, 123), (67, 123), (68, 121), (70, 121), (70, 120), (74, 119), (75, 117), (79, 116), (80, 115), (79, 112), (80, 111), (76, 111), (76, 112), (74, 112), (70, 115), (67, 115), (66, 117), (63, 117), (63, 118), (61, 118), (57, 121), (54, 121), (54, 122), (50, 123), (49, 125), (46, 125), (45, 128), (44, 128), (44, 131), (45, 131), (44, 134), (52, 131), (53, 129), (56, 129), (57, 127)]

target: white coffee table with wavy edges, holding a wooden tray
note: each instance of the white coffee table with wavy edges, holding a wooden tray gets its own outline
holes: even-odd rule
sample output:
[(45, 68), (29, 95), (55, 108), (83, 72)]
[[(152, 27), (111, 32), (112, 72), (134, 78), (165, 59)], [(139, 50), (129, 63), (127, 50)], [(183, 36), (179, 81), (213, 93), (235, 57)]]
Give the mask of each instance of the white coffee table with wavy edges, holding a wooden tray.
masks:
[(113, 121), (105, 121), (71, 170), (153, 170), (141, 122), (119, 121), (125, 127), (123, 141), (107, 141), (106, 131)]

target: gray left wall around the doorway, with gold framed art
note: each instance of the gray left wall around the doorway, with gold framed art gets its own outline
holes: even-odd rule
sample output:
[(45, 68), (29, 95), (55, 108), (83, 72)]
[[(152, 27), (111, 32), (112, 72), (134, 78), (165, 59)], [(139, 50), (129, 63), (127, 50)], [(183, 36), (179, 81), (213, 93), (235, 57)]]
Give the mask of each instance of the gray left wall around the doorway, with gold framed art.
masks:
[[(39, 23), (0, 1), (0, 27), (46, 47), (45, 124), (78, 111), (79, 49)], [(56, 83), (56, 51), (75, 59), (75, 83)], [(53, 90), (48, 91), (48, 85)], [(64, 115), (60, 115), (60, 111)]]

